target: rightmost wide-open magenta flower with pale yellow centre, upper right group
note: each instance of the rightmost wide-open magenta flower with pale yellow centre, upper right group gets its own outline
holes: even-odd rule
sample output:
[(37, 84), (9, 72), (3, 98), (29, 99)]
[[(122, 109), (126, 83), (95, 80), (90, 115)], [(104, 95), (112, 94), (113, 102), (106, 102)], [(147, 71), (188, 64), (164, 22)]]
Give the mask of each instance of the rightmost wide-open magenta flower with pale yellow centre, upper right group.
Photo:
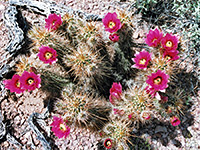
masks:
[(165, 37), (162, 38), (161, 44), (162, 47), (167, 51), (176, 50), (178, 47), (178, 37), (167, 33)]

